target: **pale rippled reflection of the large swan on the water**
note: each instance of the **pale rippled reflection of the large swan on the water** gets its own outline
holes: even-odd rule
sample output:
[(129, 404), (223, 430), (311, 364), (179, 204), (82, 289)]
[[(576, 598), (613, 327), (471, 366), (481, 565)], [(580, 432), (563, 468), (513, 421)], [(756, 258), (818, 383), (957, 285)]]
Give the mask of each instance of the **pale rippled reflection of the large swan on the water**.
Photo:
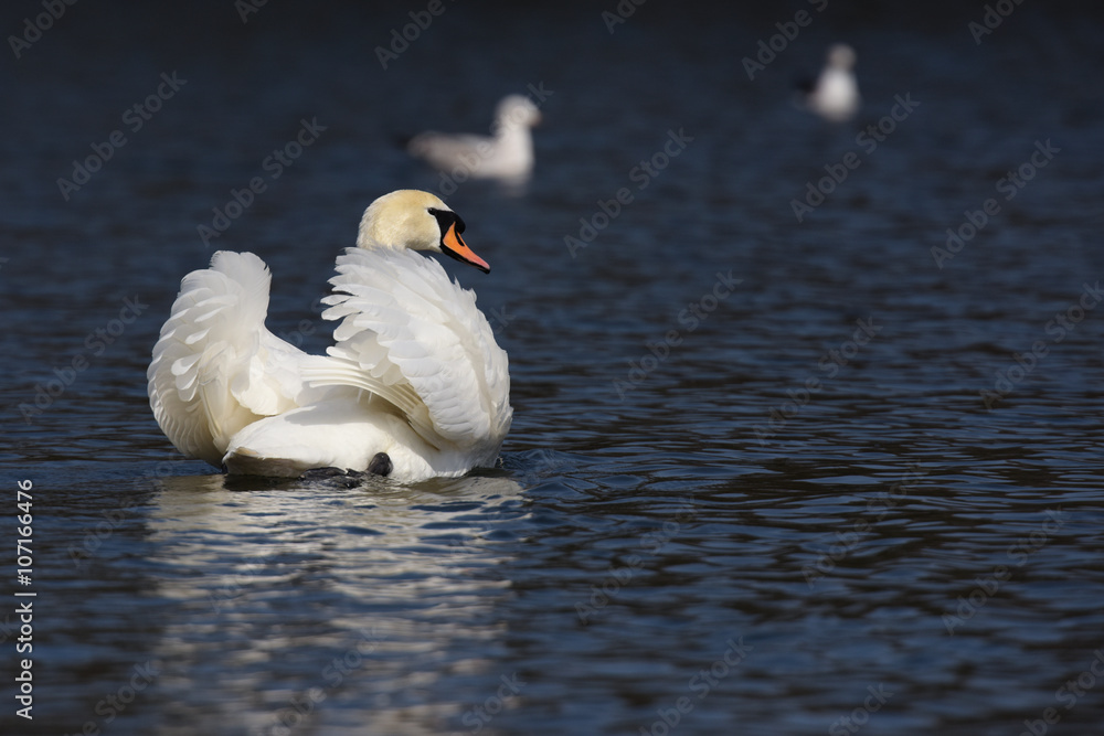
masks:
[[(162, 733), (434, 733), (493, 692), (521, 487), (161, 481)], [(489, 689), (489, 690), (488, 690)], [(200, 727), (197, 727), (200, 724)], [(289, 729), (289, 730), (288, 730)], [(183, 729), (179, 733), (184, 733)]]

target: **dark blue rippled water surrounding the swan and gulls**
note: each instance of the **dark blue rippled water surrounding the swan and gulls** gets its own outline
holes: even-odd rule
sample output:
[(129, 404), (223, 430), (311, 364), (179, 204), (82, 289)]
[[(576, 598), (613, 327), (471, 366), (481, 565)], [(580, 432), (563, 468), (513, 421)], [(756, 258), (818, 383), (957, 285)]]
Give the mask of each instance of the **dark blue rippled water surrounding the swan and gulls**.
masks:
[[(614, 3), (448, 2), (386, 70), (426, 6), (82, 2), (9, 41), (3, 733), (1102, 733), (1104, 23), (820, 4), (611, 34)], [(789, 87), (840, 40), (863, 107), (830, 126)], [(543, 96), (532, 181), (447, 196), (493, 267), (446, 264), (510, 355), (501, 467), (181, 459), (145, 388), (180, 278), (257, 253), (321, 351), (363, 207), (443, 186), (394, 139), (512, 92)]]

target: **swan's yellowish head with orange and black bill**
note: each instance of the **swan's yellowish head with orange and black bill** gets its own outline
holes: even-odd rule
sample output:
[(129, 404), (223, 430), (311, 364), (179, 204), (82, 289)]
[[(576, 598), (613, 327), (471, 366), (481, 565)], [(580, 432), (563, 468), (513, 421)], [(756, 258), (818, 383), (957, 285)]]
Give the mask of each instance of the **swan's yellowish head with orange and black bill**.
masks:
[(490, 273), (487, 262), (460, 237), (463, 232), (464, 221), (440, 199), (401, 189), (368, 205), (360, 221), (357, 247), (434, 250)]

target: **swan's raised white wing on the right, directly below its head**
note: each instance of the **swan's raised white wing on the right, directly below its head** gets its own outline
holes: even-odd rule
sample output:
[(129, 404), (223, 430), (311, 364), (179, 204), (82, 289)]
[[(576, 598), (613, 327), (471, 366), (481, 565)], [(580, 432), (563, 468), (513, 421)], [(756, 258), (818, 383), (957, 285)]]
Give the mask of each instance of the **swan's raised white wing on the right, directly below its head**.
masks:
[(322, 313), (340, 320), (337, 344), (304, 363), (304, 381), (371, 392), (438, 449), (500, 444), (510, 375), (475, 294), (412, 250), (349, 248), (337, 263)]

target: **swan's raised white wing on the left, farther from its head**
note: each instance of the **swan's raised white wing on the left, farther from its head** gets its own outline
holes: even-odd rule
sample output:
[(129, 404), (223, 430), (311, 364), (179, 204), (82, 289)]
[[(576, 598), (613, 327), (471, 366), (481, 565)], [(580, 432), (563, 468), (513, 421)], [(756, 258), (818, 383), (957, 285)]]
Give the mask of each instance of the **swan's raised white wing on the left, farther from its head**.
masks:
[(177, 449), (220, 466), (230, 438), (295, 408), (305, 354), (265, 328), (267, 266), (220, 250), (183, 278), (149, 365), (149, 403)]

